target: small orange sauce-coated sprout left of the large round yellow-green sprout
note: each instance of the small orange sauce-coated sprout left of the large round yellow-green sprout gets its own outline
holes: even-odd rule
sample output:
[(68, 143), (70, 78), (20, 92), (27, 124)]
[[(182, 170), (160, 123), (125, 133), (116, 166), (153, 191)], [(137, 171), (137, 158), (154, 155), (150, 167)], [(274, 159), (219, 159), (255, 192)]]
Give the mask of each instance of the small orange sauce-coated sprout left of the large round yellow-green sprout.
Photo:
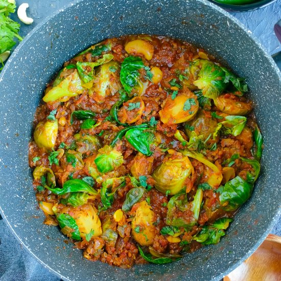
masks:
[(138, 179), (142, 175), (150, 175), (152, 172), (153, 157), (147, 157), (142, 153), (138, 153), (131, 167), (131, 174)]

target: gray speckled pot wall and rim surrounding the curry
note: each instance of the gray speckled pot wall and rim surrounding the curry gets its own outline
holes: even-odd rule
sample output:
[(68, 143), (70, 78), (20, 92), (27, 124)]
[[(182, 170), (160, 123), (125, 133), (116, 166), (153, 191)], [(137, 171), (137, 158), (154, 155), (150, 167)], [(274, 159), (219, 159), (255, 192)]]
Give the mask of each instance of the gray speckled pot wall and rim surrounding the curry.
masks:
[[(28, 167), (32, 121), (43, 89), (63, 62), (93, 43), (125, 34), (158, 34), (202, 46), (247, 77), (264, 135), (262, 172), (251, 199), (218, 245), (168, 265), (111, 267), (82, 259), (56, 227), (43, 225)], [(279, 216), (281, 75), (250, 32), (204, 0), (75, 2), (35, 28), (0, 76), (0, 209), (38, 261), (65, 280), (216, 280), (259, 246)]]

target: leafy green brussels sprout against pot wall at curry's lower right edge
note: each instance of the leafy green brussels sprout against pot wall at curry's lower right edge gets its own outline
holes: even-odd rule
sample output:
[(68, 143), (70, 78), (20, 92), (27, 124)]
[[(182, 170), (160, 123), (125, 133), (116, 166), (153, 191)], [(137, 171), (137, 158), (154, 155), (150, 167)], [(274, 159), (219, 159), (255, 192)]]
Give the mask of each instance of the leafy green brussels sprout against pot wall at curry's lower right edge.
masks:
[(225, 235), (224, 230), (232, 221), (232, 219), (221, 218), (211, 225), (204, 225), (202, 230), (193, 237), (193, 240), (203, 245), (218, 244), (220, 238)]

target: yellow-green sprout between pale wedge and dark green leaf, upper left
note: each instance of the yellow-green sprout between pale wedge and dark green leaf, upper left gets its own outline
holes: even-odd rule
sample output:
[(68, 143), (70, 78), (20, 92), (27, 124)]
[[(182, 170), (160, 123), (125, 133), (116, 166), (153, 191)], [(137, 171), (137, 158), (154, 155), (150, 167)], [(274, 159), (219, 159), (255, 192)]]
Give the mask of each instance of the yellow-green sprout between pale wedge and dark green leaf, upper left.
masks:
[[(116, 71), (110, 71), (112, 68)], [(120, 64), (116, 61), (107, 62), (97, 68), (96, 79), (91, 88), (91, 91), (95, 93), (96, 101), (102, 103), (107, 96), (114, 95), (122, 88), (118, 75), (119, 71)]]

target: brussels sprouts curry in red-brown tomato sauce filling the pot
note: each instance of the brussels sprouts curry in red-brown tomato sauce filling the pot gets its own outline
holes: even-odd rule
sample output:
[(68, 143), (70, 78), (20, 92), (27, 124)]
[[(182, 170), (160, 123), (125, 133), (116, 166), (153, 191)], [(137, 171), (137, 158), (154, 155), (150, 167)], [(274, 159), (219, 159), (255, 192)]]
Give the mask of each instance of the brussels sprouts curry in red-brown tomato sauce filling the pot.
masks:
[(34, 119), (45, 224), (91, 261), (178, 261), (251, 196), (263, 137), (247, 84), (190, 43), (107, 39), (64, 63)]

